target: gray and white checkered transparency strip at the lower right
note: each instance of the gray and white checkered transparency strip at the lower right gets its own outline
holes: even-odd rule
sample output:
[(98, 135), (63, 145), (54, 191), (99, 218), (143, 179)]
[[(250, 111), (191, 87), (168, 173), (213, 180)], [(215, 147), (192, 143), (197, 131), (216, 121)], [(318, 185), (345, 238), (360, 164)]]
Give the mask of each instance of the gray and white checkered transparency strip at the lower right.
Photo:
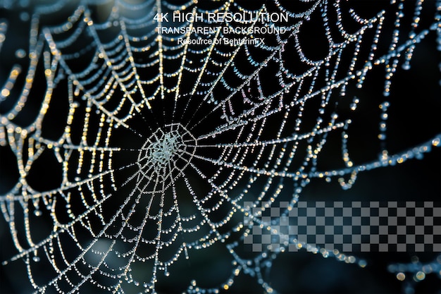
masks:
[[(343, 252), (441, 252), (441, 202), (298, 202), (290, 211), (287, 206), (280, 202), (259, 216), (261, 224), (253, 223), (244, 238), (250, 250), (297, 251), (297, 239)], [(251, 209), (254, 216), (261, 211)]]

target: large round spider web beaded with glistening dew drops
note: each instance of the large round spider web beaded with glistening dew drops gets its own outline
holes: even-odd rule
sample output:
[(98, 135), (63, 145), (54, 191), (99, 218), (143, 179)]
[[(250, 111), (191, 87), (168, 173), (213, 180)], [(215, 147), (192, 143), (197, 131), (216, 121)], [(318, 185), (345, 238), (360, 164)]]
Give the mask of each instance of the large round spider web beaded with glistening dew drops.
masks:
[[(0, 1), (3, 270), (37, 293), (218, 293), (240, 276), (271, 293), (266, 272), (290, 245), (359, 262), (243, 240), (314, 183), (348, 190), (439, 153), (440, 5)], [(228, 12), (288, 21), (166, 19)], [(224, 257), (226, 276), (198, 278)]]

